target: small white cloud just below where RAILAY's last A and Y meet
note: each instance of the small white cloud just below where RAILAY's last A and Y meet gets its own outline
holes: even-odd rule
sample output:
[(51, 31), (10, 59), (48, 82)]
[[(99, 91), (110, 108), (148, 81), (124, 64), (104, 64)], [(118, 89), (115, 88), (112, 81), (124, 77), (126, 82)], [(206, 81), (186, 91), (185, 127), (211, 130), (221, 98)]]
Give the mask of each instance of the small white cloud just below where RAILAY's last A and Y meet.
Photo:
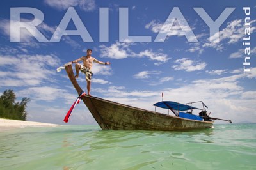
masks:
[(174, 70), (186, 70), (186, 72), (193, 72), (196, 70), (204, 70), (207, 65), (205, 62), (193, 61), (188, 58), (177, 59), (175, 63), (179, 65), (173, 65)]

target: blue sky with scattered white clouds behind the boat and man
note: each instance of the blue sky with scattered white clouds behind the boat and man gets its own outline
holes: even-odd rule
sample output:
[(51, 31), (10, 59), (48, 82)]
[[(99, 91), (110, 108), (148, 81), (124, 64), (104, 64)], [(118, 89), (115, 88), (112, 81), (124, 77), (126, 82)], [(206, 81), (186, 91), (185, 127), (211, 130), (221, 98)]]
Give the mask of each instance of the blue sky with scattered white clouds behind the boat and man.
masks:
[[(214, 118), (256, 123), (255, 1), (3, 0), (0, 8), (0, 91), (30, 98), (28, 121), (97, 124), (83, 103), (63, 122), (77, 92), (56, 72), (92, 49), (111, 63), (93, 64), (93, 96), (154, 111), (163, 93), (202, 100)], [(83, 73), (77, 81), (87, 91)]]

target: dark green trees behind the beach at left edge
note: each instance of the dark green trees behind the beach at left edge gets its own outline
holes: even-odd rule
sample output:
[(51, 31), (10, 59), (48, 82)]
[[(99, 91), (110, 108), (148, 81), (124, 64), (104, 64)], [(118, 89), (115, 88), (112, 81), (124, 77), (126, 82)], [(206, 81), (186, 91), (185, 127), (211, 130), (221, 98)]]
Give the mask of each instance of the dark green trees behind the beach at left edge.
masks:
[(22, 98), (21, 102), (15, 102), (16, 95), (12, 89), (3, 92), (0, 97), (0, 118), (9, 118), (13, 120), (26, 120), (26, 105), (29, 98)]

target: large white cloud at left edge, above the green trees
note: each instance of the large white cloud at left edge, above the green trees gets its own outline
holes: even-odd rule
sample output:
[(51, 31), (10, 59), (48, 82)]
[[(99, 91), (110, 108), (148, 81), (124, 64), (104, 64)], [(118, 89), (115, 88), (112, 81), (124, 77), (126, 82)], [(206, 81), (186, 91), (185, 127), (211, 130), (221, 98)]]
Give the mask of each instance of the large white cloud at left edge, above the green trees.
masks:
[(4, 70), (0, 74), (0, 86), (36, 86), (49, 82), (56, 73), (52, 68), (59, 65), (60, 59), (54, 55), (0, 56), (0, 66)]

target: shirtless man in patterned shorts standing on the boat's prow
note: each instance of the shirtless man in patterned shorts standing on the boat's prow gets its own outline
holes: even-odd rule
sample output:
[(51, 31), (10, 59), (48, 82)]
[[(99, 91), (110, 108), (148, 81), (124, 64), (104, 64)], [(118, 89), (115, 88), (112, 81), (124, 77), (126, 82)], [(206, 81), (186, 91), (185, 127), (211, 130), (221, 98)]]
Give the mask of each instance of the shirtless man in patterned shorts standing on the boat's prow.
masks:
[[(92, 56), (92, 50), (88, 49), (87, 50), (87, 56), (83, 56), (79, 59), (76, 59), (74, 61), (72, 61), (72, 63), (76, 63), (76, 78), (78, 78), (79, 76), (79, 71), (83, 72), (86, 75), (86, 81), (87, 81), (87, 91), (88, 91), (88, 95), (90, 95), (90, 89), (91, 89), (91, 79), (92, 79), (92, 65), (93, 62), (95, 63), (99, 63), (101, 65), (110, 65), (109, 62), (102, 62), (102, 61), (98, 61), (97, 59), (93, 58)], [(80, 65), (78, 63), (78, 61), (83, 60), (83, 65)]]

